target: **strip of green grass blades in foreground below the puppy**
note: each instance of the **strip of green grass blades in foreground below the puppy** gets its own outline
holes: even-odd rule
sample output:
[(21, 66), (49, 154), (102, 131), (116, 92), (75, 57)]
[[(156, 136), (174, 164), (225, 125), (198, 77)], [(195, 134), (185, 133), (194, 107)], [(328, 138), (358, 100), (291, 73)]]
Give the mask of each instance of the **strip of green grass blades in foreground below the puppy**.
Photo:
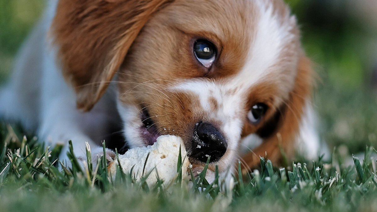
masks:
[[(161, 182), (148, 186), (145, 179), (122, 172), (112, 180), (106, 163), (100, 162), (97, 172), (81, 170), (72, 153), (72, 168), (59, 171), (54, 164), (61, 146), (46, 148), (17, 131), (17, 126), (0, 125), (0, 145), (5, 147), (0, 153), (0, 206), (12, 211), (377, 210), (376, 161), (371, 159), (377, 152), (372, 147), (365, 150), (366, 160), (353, 158), (354, 166), (344, 166), (336, 151), (327, 163), (319, 158), (286, 168), (261, 158), (261, 169), (244, 179), (233, 177), (228, 187), (218, 178), (208, 184), (204, 174), (193, 179), (192, 188), (181, 186), (179, 177), (165, 187)], [(177, 163), (178, 173), (179, 167)]]

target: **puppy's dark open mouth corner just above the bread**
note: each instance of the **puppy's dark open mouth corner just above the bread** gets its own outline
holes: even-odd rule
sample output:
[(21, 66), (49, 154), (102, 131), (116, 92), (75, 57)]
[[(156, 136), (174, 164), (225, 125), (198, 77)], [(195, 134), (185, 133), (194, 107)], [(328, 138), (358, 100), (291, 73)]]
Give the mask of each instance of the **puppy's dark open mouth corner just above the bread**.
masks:
[(143, 126), (141, 126), (141, 136), (144, 138), (146, 145), (153, 145), (157, 141), (157, 137), (161, 134), (159, 133), (156, 123), (153, 122), (152, 118), (149, 115), (149, 112), (146, 108), (141, 110), (141, 122)]

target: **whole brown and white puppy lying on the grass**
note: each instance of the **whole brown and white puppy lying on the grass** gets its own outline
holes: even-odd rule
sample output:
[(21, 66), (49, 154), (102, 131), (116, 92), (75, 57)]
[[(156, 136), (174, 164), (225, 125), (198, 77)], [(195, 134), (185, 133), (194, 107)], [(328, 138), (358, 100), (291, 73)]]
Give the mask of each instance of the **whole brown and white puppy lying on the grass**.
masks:
[(86, 141), (100, 155), (103, 140), (171, 134), (194, 166), (210, 157), (223, 173), (240, 159), (246, 173), (259, 156), (316, 157), (314, 78), (283, 0), (51, 0), (0, 113), (64, 151), (72, 140), (83, 162)]

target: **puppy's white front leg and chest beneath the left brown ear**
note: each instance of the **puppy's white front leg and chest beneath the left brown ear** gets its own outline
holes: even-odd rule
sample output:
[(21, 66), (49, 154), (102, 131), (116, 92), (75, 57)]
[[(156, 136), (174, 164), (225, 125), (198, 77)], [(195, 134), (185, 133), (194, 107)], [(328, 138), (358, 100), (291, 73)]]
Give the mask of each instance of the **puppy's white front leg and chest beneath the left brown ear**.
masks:
[[(112, 122), (116, 119), (112, 95), (104, 97), (90, 112), (79, 111), (74, 91), (66, 84), (59, 68), (56, 67), (54, 52), (46, 52), (41, 89), (40, 140), (52, 146), (64, 145), (61, 160), (67, 160), (68, 142), (72, 140), (74, 154), (86, 163), (85, 143), (92, 148), (92, 160), (103, 154), (101, 141), (110, 134)], [(114, 105), (111, 108), (111, 105)], [(110, 107), (110, 108), (109, 108)], [(106, 149), (106, 158), (111, 160), (114, 152)]]

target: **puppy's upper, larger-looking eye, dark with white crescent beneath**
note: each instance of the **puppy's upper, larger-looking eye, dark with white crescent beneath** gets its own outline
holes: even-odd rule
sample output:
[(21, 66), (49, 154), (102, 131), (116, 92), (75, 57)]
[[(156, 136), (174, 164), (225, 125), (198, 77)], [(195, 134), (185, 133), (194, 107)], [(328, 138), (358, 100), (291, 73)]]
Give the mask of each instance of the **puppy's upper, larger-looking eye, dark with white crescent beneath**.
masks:
[(194, 53), (196, 59), (198, 59), (205, 68), (210, 68), (216, 58), (215, 46), (208, 40), (195, 41)]

